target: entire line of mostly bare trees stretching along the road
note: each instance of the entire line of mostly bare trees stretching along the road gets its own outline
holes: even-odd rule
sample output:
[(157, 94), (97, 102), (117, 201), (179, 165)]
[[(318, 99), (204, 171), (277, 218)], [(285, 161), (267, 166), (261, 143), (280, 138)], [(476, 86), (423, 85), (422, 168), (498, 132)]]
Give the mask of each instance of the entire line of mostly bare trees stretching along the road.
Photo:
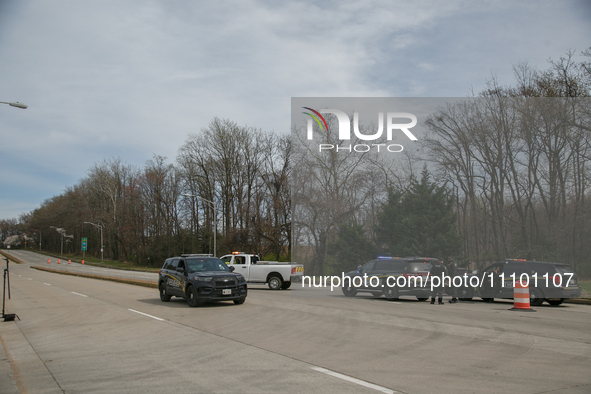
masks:
[(310, 274), (388, 253), (454, 254), (480, 266), (552, 260), (590, 275), (591, 49), (581, 55), (543, 71), (518, 64), (513, 86), (492, 79), (440, 107), (426, 120), (423, 153), (396, 161), (373, 151), (319, 154), (293, 130), (290, 138), (214, 118), (174, 164), (161, 156), (143, 168), (97, 163), (18, 221), (0, 221), (0, 236), (41, 235), (56, 252), (51, 226), (64, 228), (74, 236), (66, 251), (80, 250), (85, 236), (98, 255), (90, 222), (103, 226), (106, 258), (142, 265), (240, 249), (292, 257)]

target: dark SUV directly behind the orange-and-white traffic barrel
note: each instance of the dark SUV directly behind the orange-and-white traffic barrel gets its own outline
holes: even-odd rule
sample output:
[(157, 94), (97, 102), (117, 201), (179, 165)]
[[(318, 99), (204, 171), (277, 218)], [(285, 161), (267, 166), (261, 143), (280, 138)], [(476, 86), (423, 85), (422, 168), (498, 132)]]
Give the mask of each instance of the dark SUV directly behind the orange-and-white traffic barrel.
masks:
[(542, 305), (544, 301), (557, 306), (568, 298), (581, 296), (577, 275), (570, 266), (561, 263), (508, 259), (489, 265), (475, 275), (479, 286), (473, 288), (473, 293), (465, 295), (466, 299), (473, 295), (488, 302), (495, 298), (512, 299), (514, 284), (520, 280), (529, 287), (532, 306)]

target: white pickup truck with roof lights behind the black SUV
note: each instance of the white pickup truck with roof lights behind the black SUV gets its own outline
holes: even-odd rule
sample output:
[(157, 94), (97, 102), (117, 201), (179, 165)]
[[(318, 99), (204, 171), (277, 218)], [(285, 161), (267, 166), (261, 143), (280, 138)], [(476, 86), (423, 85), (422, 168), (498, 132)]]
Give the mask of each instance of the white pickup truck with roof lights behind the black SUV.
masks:
[(234, 267), (249, 283), (267, 283), (271, 290), (287, 290), (291, 282), (302, 280), (304, 266), (289, 262), (261, 261), (256, 254), (232, 253), (221, 257), (222, 261)]

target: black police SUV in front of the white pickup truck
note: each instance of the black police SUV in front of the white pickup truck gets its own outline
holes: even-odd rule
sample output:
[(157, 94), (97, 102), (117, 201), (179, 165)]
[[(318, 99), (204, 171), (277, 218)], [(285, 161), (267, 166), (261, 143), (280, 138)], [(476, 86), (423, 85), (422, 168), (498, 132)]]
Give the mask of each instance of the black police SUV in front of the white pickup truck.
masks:
[(247, 287), (244, 276), (234, 273), (222, 260), (209, 255), (181, 255), (164, 262), (158, 278), (160, 300), (172, 296), (187, 300), (190, 307), (207, 301), (243, 304)]

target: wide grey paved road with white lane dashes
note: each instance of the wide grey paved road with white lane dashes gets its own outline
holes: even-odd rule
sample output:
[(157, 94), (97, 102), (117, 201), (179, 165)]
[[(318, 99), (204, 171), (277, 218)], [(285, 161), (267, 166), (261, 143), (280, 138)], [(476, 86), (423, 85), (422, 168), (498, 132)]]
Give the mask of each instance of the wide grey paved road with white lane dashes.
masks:
[(189, 308), (156, 289), (10, 272), (21, 320), (0, 322), (0, 393), (591, 392), (586, 305), (527, 313), (296, 284)]

